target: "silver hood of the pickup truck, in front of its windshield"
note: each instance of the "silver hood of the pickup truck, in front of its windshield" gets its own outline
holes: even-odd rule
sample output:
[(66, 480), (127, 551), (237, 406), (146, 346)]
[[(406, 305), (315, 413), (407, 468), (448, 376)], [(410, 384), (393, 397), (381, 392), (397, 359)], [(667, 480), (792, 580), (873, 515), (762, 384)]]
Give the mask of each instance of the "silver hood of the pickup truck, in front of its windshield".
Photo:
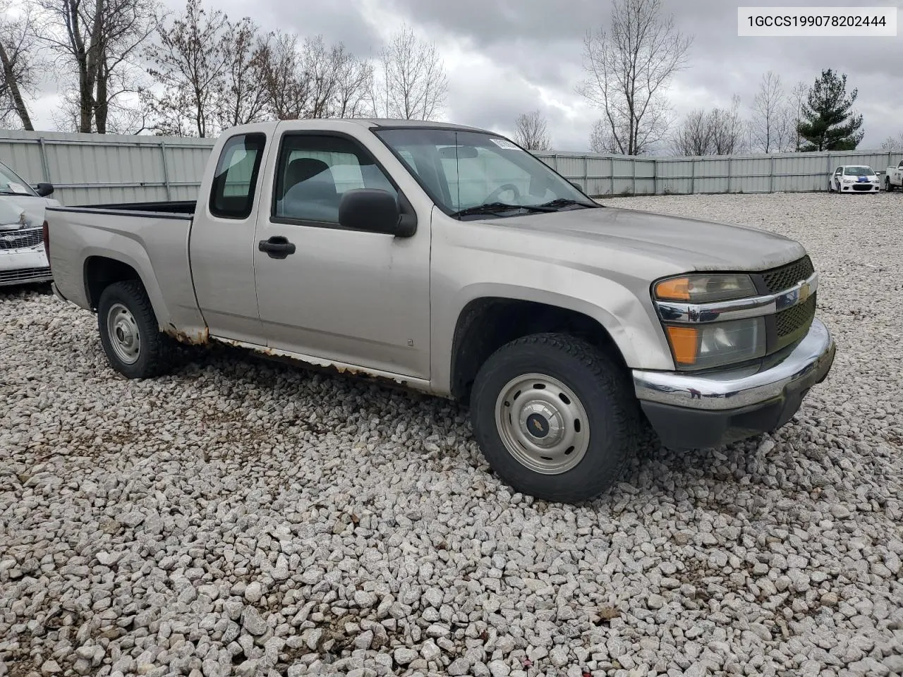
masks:
[(654, 256), (685, 271), (759, 271), (805, 255), (796, 240), (747, 226), (636, 209), (570, 209), (487, 223)]

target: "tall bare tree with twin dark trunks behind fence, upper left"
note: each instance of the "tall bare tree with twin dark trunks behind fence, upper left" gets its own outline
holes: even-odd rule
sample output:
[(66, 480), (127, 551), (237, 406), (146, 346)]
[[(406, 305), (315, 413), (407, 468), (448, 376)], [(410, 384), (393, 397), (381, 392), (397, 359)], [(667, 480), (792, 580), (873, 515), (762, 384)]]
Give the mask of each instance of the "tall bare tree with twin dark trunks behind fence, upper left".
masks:
[(38, 5), (39, 37), (77, 81), (78, 131), (106, 133), (110, 110), (122, 109), (129, 95), (142, 90), (137, 58), (157, 26), (155, 3), (38, 0)]

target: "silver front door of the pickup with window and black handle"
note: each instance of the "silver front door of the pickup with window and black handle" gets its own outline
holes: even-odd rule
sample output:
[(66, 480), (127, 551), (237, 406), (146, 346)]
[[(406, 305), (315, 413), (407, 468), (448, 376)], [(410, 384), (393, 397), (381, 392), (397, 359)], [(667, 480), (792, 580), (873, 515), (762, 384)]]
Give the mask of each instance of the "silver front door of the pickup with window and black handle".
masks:
[(412, 237), (344, 229), (340, 199), (356, 188), (397, 195), (357, 140), (282, 136), (270, 207), (261, 210), (255, 236), (267, 345), (428, 379), (430, 224), (422, 218)]

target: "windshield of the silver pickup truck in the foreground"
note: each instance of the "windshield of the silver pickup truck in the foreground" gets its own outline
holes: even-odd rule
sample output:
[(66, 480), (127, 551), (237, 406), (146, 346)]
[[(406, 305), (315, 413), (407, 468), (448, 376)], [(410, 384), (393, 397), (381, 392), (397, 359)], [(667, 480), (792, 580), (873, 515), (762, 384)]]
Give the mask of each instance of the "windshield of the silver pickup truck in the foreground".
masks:
[(494, 134), (441, 128), (373, 131), (452, 216), (463, 216), (463, 210), (499, 217), (529, 208), (598, 206), (544, 162)]

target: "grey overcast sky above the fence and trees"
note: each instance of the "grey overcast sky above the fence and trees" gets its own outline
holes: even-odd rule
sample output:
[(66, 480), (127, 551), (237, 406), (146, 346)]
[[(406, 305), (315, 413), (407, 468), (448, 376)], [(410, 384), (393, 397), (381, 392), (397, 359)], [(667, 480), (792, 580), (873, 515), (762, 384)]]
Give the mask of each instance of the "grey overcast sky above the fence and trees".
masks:
[[(744, 114), (762, 74), (780, 74), (787, 91), (797, 80), (811, 85), (825, 68), (847, 74), (859, 89), (856, 108), (865, 118), (861, 148), (877, 148), (903, 133), (903, 26), (898, 37), (753, 38), (737, 36), (737, 7), (782, 5), (750, 0), (664, 0), (679, 30), (694, 36), (689, 67), (675, 76), (670, 98), (680, 117), (697, 107), (727, 106), (741, 97)], [(181, 10), (182, 0), (165, 0)], [(870, 6), (903, 0), (869, 0)], [(787, 3), (783, 3), (787, 5)], [(836, 0), (796, 0), (794, 5), (841, 5)], [(207, 6), (230, 18), (247, 14), (243, 0)], [(585, 32), (610, 20), (606, 0), (256, 0), (253, 18), (265, 29), (321, 33), (361, 56), (375, 56), (402, 23), (442, 52), (449, 78), (445, 118), (511, 134), (518, 113), (536, 107), (549, 123), (554, 148), (584, 151), (599, 112), (574, 93), (583, 77)], [(51, 92), (34, 106), (51, 128)]]

